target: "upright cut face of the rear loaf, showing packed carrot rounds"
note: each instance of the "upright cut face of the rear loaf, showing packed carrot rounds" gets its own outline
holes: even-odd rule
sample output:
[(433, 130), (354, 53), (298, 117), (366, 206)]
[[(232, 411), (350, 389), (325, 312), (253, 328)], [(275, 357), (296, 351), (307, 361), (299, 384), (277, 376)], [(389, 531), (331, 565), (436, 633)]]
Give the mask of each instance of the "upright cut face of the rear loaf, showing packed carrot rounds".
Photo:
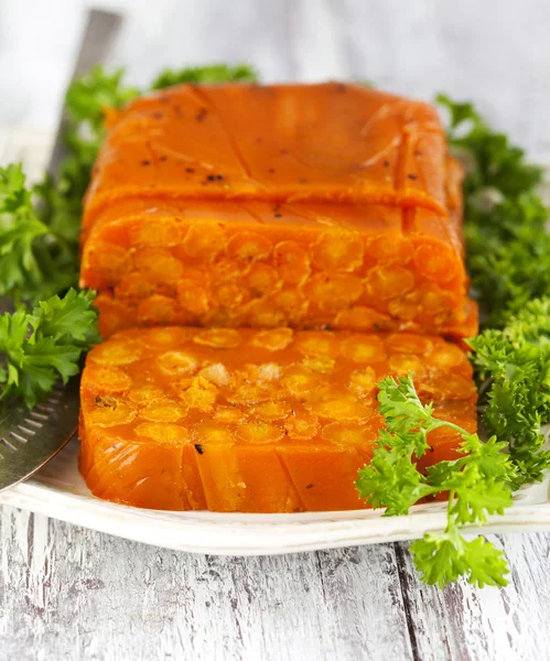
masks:
[[(174, 223), (170, 216), (147, 213), (98, 221), (85, 241), (80, 284), (100, 292), (99, 310), (107, 310), (109, 317), (103, 324), (107, 334), (117, 329), (117, 323), (125, 327), (127, 317), (141, 325), (331, 325), (456, 337), (475, 334), (476, 310), (466, 296), (462, 253), (441, 237), (416, 241), (401, 228), (373, 232), (358, 208), (355, 223), (365, 227), (344, 231), (301, 228), (304, 203), (280, 205), (285, 226), (270, 224), (268, 203), (174, 204), (181, 206), (181, 234), (188, 229), (183, 243), (163, 248), (157, 242), (132, 243), (128, 236), (140, 227), (152, 224), (164, 234), (164, 224), (171, 228)], [(239, 208), (238, 220), (231, 205)], [(247, 217), (252, 206), (254, 217)], [(316, 213), (334, 223), (346, 213), (344, 205), (325, 206), (317, 204)], [(184, 216), (194, 207), (219, 223), (193, 225)], [(256, 217), (265, 218), (265, 225)], [(256, 231), (247, 229), (248, 221)], [(114, 234), (112, 224), (128, 224), (131, 231)], [(108, 242), (118, 239), (125, 243)], [(106, 257), (99, 259), (103, 251)], [(115, 315), (114, 303), (125, 312)]]

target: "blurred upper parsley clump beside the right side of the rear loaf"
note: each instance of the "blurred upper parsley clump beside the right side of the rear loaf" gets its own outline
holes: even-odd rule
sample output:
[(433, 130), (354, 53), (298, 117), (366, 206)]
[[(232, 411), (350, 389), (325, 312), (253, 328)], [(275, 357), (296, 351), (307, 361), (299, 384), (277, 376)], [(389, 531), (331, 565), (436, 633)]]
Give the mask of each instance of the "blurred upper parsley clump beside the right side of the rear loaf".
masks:
[(494, 131), (472, 104), (439, 95), (450, 116), (449, 142), (465, 166), (464, 234), (473, 294), (486, 327), (550, 294), (548, 208), (537, 193), (542, 170)]

